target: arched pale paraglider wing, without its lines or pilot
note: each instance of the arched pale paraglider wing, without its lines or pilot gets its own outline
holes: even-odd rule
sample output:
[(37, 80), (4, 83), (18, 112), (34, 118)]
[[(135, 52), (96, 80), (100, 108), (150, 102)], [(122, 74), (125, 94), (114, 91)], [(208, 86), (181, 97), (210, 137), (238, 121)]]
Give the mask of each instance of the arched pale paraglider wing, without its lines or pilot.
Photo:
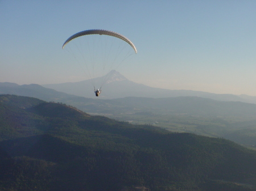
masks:
[(71, 37), (69, 37), (65, 43), (62, 46), (62, 49), (64, 49), (65, 45), (67, 45), (69, 43), (69, 41), (75, 39), (76, 37), (80, 37), (80, 36), (84, 36), (84, 35), (109, 35), (109, 36), (113, 36), (113, 37), (117, 37), (118, 39), (124, 40), (126, 41), (126, 43), (130, 44), (130, 46), (134, 49), (135, 53), (137, 54), (137, 49), (134, 46), (134, 44), (127, 39), (125, 36), (120, 35), (117, 32), (113, 32), (113, 31), (106, 31), (106, 30), (102, 30), (102, 29), (91, 29), (91, 30), (86, 30), (86, 31), (81, 31), (76, 33), (75, 35), (72, 35)]

